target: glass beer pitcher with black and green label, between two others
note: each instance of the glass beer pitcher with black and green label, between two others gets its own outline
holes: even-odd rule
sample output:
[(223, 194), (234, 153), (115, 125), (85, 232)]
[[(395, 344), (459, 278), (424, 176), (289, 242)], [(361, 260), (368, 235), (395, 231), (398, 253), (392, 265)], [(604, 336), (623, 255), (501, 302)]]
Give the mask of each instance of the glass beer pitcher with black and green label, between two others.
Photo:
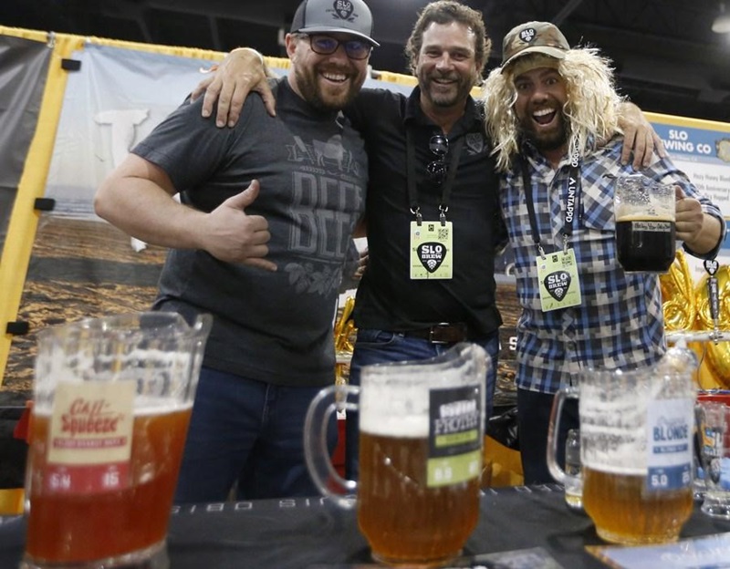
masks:
[[(357, 506), (377, 561), (437, 566), (458, 556), (474, 531), (488, 365), (482, 347), (457, 344), (428, 360), (363, 367), (360, 388), (332, 386), (313, 399), (310, 474), (334, 502)], [(327, 452), (328, 418), (340, 406), (360, 414), (358, 482), (340, 478)]]

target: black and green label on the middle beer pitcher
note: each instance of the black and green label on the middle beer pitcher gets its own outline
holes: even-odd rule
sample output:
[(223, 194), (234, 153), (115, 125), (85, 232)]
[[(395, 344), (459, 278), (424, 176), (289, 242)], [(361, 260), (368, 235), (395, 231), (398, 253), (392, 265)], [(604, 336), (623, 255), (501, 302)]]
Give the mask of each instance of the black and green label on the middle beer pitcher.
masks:
[(429, 406), (429, 488), (476, 478), (482, 471), (482, 390), (432, 389)]

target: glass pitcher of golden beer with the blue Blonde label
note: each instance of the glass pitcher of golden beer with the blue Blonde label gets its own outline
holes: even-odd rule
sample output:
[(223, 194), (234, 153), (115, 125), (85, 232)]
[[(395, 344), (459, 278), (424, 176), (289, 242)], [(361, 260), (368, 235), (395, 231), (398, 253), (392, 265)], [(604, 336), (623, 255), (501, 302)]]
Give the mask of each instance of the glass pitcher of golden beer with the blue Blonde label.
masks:
[(583, 508), (610, 543), (676, 541), (693, 510), (692, 370), (664, 357), (632, 371), (589, 371), (561, 388), (547, 434), (547, 463), (559, 481), (560, 412), (579, 399)]

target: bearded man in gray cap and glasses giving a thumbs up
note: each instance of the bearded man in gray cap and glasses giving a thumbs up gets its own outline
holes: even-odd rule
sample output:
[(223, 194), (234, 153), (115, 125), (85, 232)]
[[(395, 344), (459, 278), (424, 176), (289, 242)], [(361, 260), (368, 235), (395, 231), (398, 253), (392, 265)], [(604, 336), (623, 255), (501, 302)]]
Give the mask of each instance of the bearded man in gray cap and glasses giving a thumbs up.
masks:
[[(276, 118), (253, 97), (218, 129), (201, 101), (183, 104), (99, 188), (101, 217), (171, 248), (154, 308), (214, 316), (176, 502), (318, 492), (301, 432), (334, 380), (332, 311), (368, 182), (339, 109), (366, 77), (371, 31), (361, 0), (305, 0), (288, 75), (271, 82)], [(333, 417), (330, 450), (336, 440)]]

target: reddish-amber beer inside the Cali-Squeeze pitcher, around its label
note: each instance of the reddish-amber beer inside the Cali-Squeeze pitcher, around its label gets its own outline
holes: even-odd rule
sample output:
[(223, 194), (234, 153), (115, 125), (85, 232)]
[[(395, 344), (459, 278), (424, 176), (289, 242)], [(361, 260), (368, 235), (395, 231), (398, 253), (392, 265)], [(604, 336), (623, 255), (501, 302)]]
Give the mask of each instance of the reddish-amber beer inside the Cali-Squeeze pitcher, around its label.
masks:
[[(45, 452), (50, 418), (36, 415), (30, 440), (34, 480), (28, 496), (33, 509), (28, 518), (28, 555), (70, 564), (162, 543), (191, 409), (135, 416), (129, 485), (89, 493), (54, 491), (49, 481), (54, 472), (47, 468)], [(80, 538), (69, 546), (73, 536)]]

